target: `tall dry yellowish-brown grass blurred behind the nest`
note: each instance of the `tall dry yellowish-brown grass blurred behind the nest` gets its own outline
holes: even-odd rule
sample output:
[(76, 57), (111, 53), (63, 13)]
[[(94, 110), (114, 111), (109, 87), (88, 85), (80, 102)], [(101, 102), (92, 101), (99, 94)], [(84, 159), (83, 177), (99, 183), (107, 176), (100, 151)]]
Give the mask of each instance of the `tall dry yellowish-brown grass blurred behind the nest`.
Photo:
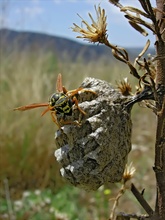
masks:
[[(107, 63), (103, 60), (84, 64), (57, 62), (51, 54), (11, 53), (1, 57), (0, 96), (0, 181), (8, 178), (11, 195), (19, 197), (25, 189), (49, 187), (57, 191), (64, 183), (59, 175), (59, 166), (54, 158), (55, 124), (49, 114), (40, 117), (42, 109), (14, 112), (14, 107), (45, 102), (55, 91), (59, 72), (68, 89), (77, 88), (86, 76), (116, 80), (129, 76), (124, 64)], [(130, 76), (130, 81), (134, 79)], [(155, 183), (152, 171), (154, 160), (155, 117), (148, 109), (135, 106), (133, 109), (133, 150), (130, 161), (137, 169), (134, 183), (139, 189), (146, 188), (146, 196), (154, 205)], [(110, 188), (115, 188), (110, 185)], [(81, 191), (80, 191), (81, 192)], [(81, 192), (81, 194), (83, 194)], [(112, 196), (115, 195), (115, 190)], [(84, 196), (84, 194), (83, 194)], [(89, 199), (89, 194), (85, 194)], [(140, 211), (131, 193), (119, 204), (120, 211)], [(85, 204), (84, 204), (85, 205)], [(111, 205), (110, 205), (111, 206)], [(137, 208), (138, 207), (138, 208)]]

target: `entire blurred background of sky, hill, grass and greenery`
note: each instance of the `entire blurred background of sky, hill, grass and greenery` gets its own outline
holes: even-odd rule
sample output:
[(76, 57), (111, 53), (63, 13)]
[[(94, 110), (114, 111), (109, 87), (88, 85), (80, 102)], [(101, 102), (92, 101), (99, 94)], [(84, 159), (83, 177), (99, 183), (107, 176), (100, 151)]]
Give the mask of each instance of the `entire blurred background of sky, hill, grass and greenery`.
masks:
[[(111, 43), (125, 47), (131, 60), (147, 39), (148, 53), (155, 54), (154, 36), (136, 33), (108, 0), (0, 0), (0, 219), (107, 219), (120, 183), (86, 192), (68, 185), (60, 176), (54, 157), (57, 127), (42, 109), (14, 112), (13, 108), (47, 102), (56, 91), (58, 73), (67, 89), (80, 86), (87, 76), (116, 81), (129, 78), (133, 91), (138, 82), (123, 63), (115, 60), (103, 45), (76, 39), (70, 29), (81, 19), (95, 18), (94, 5), (105, 8)], [(124, 5), (132, 1), (123, 0)], [(153, 6), (155, 1), (151, 1)], [(133, 1), (133, 6), (139, 6)], [(145, 190), (154, 207), (154, 142), (156, 117), (136, 104), (132, 110), (133, 134), (129, 162), (136, 173), (133, 183)], [(130, 191), (117, 211), (144, 213)]]

